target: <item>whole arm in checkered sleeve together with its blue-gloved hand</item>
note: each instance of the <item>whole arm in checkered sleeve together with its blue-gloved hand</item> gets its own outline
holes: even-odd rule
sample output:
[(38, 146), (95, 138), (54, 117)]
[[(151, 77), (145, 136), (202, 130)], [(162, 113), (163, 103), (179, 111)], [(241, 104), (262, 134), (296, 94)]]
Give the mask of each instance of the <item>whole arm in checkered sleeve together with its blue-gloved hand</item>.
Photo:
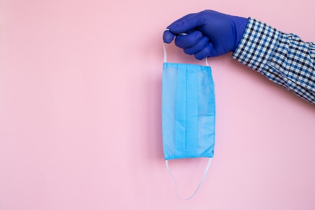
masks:
[(168, 27), (164, 41), (170, 43), (175, 37), (177, 46), (198, 59), (233, 52), (232, 58), (315, 104), (315, 44), (253, 18), (243, 28), (244, 22), (215, 11), (190, 14)]

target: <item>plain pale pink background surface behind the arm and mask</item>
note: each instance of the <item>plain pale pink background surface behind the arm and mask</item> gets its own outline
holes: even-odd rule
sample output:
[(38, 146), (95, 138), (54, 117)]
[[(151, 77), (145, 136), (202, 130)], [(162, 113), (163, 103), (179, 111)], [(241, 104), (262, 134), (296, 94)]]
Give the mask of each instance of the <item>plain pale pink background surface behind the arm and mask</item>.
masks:
[[(314, 209), (315, 106), (230, 58), (215, 155), (181, 201), (161, 131), (162, 33), (205, 9), (315, 41), (310, 0), (2, 0), (0, 205), (12, 209)], [(169, 61), (204, 64), (167, 45)], [(171, 161), (189, 196), (206, 159)]]

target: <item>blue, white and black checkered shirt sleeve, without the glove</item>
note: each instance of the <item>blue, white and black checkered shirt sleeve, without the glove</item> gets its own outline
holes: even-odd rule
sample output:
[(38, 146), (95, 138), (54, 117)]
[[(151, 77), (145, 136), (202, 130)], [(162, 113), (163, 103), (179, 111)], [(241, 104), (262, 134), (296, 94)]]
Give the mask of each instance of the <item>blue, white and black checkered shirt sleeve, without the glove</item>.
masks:
[(249, 18), (232, 58), (315, 104), (315, 44)]

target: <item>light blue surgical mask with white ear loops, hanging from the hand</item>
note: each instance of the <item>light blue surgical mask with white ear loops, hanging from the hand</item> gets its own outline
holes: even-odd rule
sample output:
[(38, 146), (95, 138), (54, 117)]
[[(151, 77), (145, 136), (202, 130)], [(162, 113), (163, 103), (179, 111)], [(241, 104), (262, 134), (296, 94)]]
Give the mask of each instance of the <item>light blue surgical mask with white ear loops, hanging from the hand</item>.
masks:
[(206, 66), (167, 62), (164, 46), (162, 76), (163, 150), (168, 160), (180, 158), (209, 158), (202, 181), (210, 167), (214, 152), (215, 100), (211, 68)]

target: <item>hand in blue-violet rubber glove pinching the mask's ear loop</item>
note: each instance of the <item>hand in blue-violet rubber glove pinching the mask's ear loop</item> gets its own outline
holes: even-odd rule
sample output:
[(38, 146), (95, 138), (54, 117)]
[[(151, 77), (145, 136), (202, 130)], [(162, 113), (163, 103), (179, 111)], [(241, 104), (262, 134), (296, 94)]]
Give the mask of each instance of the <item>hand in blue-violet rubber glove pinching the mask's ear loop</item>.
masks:
[[(234, 52), (246, 29), (248, 19), (205, 10), (184, 16), (175, 21), (163, 34), (163, 40), (171, 43), (197, 59), (215, 57)], [(187, 35), (180, 35), (187, 33)]]

